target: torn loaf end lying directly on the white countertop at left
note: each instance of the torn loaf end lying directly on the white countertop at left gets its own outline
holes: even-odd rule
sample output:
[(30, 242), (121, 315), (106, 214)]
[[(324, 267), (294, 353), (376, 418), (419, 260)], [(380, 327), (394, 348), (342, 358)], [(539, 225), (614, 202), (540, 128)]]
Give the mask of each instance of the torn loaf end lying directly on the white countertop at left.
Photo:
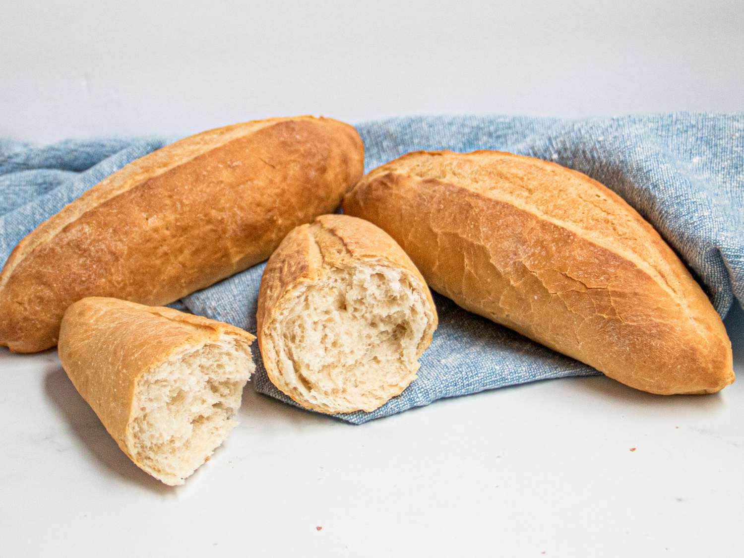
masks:
[(165, 484), (209, 459), (254, 371), (254, 336), (164, 307), (89, 297), (60, 330), (60, 360), (121, 450)]

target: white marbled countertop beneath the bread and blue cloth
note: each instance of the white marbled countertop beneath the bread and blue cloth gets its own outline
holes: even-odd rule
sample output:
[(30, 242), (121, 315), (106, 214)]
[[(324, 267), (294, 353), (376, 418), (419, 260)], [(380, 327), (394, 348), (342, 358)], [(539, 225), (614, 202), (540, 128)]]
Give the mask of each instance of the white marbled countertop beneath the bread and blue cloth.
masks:
[(2, 557), (743, 552), (741, 379), (703, 397), (548, 380), (363, 426), (248, 386), (240, 426), (176, 488), (129, 462), (54, 351), (0, 350), (0, 382)]

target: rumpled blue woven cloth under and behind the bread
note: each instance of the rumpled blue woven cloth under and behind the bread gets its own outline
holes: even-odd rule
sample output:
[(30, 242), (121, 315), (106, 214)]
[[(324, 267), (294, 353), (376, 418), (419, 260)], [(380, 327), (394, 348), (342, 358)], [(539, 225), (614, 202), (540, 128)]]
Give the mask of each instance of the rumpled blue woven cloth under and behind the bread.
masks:
[[(490, 149), (555, 161), (612, 188), (649, 220), (725, 316), (744, 304), (744, 112), (566, 120), (513, 116), (407, 117), (356, 126), (371, 170), (414, 150)], [(36, 225), (129, 161), (175, 138), (68, 140), (37, 147), (0, 140), (0, 262)], [(256, 330), (263, 265), (195, 292), (176, 307)], [(443, 397), (596, 374), (593, 368), (434, 296), (440, 325), (418, 378), (365, 423)], [(257, 357), (254, 388), (286, 403)]]

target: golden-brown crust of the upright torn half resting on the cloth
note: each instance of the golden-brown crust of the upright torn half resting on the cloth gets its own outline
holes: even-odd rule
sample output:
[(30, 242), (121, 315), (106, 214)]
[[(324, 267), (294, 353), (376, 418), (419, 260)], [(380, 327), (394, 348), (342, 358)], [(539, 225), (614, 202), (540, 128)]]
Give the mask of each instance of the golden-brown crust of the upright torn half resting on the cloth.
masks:
[[(315, 282), (327, 269), (347, 268), (362, 262), (403, 269), (420, 283), (421, 292), (426, 296), (426, 304), (434, 316), (432, 327), (419, 344), (420, 353), (429, 347), (434, 330), (437, 329), (437, 310), (426, 281), (411, 258), (385, 231), (371, 222), (347, 215), (321, 215), (311, 224), (301, 225), (287, 234), (269, 258), (261, 278), (256, 316), (258, 346), (264, 368), (274, 385), (279, 388), (281, 385), (277, 378), (277, 364), (267, 358), (263, 339), (276, 318), (281, 299), (292, 296), (303, 283)], [(326, 408), (298, 400), (292, 392), (285, 393), (307, 408), (329, 412)]]

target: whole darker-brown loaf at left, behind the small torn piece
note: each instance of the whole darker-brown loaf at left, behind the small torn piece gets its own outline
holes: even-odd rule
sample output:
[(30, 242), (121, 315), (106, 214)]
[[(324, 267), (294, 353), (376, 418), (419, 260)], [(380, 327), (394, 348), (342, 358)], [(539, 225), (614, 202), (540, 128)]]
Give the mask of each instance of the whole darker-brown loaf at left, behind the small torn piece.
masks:
[(86, 296), (167, 304), (271, 255), (338, 207), (364, 169), (356, 130), (274, 118), (176, 141), (104, 179), (39, 225), (0, 275), (0, 346), (57, 344)]

